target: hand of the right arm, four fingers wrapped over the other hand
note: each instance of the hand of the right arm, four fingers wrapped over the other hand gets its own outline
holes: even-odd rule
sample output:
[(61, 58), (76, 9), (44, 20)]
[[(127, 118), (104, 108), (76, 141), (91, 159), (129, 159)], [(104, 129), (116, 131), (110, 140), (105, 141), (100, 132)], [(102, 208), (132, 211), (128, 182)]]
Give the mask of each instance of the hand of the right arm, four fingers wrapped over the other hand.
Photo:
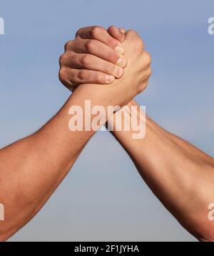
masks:
[(61, 56), (59, 79), (71, 91), (79, 84), (111, 84), (123, 76), (126, 59), (121, 42), (124, 35), (110, 28), (115, 39), (100, 26), (79, 29)]

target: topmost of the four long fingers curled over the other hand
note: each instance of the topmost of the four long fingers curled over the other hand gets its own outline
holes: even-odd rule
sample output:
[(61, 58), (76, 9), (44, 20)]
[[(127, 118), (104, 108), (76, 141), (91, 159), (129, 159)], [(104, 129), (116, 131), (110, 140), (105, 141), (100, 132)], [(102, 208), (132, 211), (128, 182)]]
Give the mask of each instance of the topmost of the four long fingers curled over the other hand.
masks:
[(76, 33), (76, 36), (79, 36), (82, 39), (96, 39), (103, 42), (103, 44), (108, 45), (112, 49), (115, 49), (116, 46), (121, 46), (123, 48), (120, 41), (118, 41), (116, 38), (113, 38), (113, 36), (108, 34), (108, 31), (101, 26), (89, 26), (83, 29), (79, 29)]

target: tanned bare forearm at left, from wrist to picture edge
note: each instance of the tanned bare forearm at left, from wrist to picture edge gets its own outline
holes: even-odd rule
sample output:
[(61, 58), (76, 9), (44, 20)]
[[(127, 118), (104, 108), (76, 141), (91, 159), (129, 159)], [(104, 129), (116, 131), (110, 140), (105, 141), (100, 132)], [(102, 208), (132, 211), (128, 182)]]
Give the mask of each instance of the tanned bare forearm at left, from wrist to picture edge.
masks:
[(85, 99), (91, 100), (91, 107), (106, 108), (113, 103), (108, 87), (83, 85), (38, 132), (0, 150), (0, 202), (5, 207), (5, 221), (0, 222), (1, 240), (6, 240), (34, 217), (96, 132), (68, 129), (71, 118), (68, 109), (79, 106), (85, 114)]

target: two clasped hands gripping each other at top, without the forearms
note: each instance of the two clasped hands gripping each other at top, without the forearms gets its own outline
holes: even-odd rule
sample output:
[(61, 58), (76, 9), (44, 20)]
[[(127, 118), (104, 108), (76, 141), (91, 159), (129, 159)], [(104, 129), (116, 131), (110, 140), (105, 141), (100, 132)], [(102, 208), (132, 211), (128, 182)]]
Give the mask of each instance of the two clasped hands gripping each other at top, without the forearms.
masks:
[(115, 26), (79, 29), (76, 39), (66, 43), (59, 63), (59, 78), (68, 89), (105, 85), (113, 95), (111, 103), (120, 106), (143, 92), (151, 76), (151, 56), (140, 36)]

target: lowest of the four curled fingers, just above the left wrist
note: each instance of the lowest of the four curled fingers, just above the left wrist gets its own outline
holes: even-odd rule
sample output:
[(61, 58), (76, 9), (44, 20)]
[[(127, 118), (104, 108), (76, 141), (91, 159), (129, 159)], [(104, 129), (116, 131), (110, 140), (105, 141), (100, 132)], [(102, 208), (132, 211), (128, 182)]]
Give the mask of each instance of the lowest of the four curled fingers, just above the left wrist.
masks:
[(115, 77), (87, 69), (66, 69), (66, 84), (111, 84)]

